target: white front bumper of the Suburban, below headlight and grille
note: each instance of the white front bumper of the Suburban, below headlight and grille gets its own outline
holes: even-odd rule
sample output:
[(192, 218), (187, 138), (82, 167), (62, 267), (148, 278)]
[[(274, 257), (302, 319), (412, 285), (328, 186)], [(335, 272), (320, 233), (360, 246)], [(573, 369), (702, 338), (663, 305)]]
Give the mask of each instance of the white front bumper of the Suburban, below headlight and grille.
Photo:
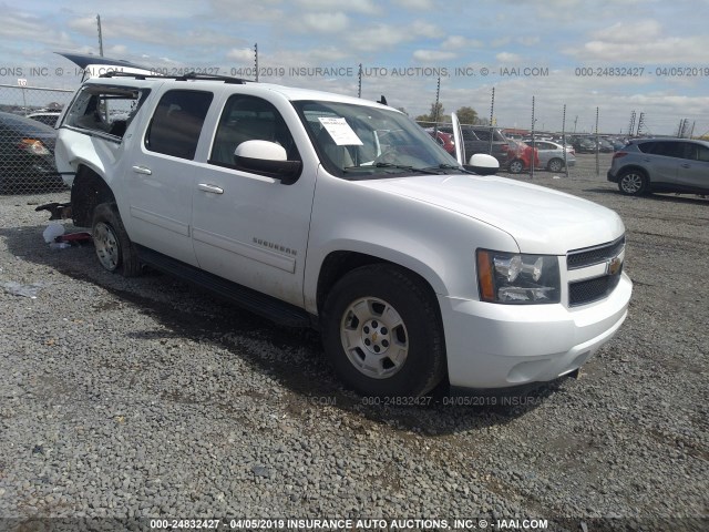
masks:
[(495, 305), (439, 296), (452, 387), (494, 389), (571, 374), (625, 320), (633, 284), (582, 307)]

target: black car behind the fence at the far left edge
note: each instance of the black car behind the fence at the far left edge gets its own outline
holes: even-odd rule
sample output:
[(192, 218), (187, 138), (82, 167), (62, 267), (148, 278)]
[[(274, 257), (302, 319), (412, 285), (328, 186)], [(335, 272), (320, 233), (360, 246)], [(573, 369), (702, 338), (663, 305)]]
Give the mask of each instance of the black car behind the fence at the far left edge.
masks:
[(0, 112), (0, 192), (63, 186), (54, 164), (55, 140), (48, 125)]

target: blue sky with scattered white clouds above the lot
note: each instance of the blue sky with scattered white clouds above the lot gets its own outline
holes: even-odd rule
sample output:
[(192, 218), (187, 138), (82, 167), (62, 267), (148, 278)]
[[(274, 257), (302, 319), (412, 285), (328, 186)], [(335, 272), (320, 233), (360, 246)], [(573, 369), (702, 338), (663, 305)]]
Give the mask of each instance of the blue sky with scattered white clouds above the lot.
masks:
[[(411, 115), (435, 101), (499, 125), (672, 134), (709, 132), (709, 0), (25, 0), (0, 24), (0, 83), (75, 89), (54, 51), (357, 95)], [(58, 70), (62, 69), (62, 70)], [(318, 70), (319, 69), (319, 70)], [(62, 75), (56, 75), (61, 72)], [(0, 88), (0, 95), (9, 90)], [(636, 119), (637, 127), (637, 119)]]

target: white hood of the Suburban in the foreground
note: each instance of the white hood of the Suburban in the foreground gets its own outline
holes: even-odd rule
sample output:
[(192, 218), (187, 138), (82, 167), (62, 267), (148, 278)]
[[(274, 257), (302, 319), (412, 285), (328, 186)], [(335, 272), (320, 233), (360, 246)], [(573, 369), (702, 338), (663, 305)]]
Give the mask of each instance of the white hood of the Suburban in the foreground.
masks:
[(505, 177), (422, 175), (360, 183), (493, 225), (510, 234), (522, 253), (565, 255), (612, 242), (625, 232), (609, 208)]

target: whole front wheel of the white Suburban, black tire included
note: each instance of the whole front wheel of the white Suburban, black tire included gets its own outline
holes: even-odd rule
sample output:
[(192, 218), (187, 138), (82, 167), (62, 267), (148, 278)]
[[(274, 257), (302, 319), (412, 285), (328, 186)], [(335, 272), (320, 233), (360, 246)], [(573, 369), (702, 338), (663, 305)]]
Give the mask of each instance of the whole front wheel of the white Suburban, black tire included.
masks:
[(362, 396), (419, 397), (445, 372), (436, 301), (422, 279), (393, 265), (362, 266), (338, 280), (321, 332), (336, 372)]

